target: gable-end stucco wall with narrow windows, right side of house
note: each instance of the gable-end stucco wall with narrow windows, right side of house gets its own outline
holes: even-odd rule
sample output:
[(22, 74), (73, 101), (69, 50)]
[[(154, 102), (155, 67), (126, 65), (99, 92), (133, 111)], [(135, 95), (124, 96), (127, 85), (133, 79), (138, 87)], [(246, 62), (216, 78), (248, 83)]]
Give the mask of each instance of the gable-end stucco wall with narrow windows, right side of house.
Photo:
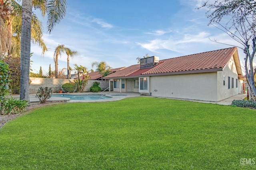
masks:
[[(223, 71), (217, 72), (218, 76), (218, 88), (217, 88), (217, 99), (218, 101), (224, 100), (231, 96), (239, 93), (239, 86), (241, 86), (240, 81), (238, 81), (238, 87), (236, 87), (236, 79), (238, 79), (238, 74), (236, 71), (236, 65), (234, 63), (233, 57), (230, 58)], [(223, 85), (223, 76), (225, 76), (225, 85)], [(228, 77), (230, 77), (230, 88), (228, 88)], [(232, 88), (232, 78), (234, 78), (234, 87)]]

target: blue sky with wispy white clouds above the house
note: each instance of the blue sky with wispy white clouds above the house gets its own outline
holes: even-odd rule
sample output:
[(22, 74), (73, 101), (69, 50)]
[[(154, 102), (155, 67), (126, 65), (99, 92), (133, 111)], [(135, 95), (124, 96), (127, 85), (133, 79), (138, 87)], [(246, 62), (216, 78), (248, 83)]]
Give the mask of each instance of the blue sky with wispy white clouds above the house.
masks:
[[(160, 60), (228, 48), (214, 43), (238, 45), (224, 32), (208, 26), (206, 10), (196, 10), (204, 0), (67, 0), (65, 18), (46, 30), (43, 39), (48, 52), (32, 45), (33, 72), (40, 66), (47, 74), (49, 64), (54, 70), (53, 54), (58, 44), (64, 44), (79, 55), (70, 59), (89, 70), (94, 61), (105, 61), (112, 68), (137, 64), (136, 58), (157, 56)], [(38, 13), (39, 15), (39, 13)], [(210, 38), (210, 39), (209, 39)], [(243, 65), (244, 54), (238, 49)], [(59, 58), (58, 68), (67, 67), (67, 56)], [(96, 69), (95, 67), (93, 68)]]

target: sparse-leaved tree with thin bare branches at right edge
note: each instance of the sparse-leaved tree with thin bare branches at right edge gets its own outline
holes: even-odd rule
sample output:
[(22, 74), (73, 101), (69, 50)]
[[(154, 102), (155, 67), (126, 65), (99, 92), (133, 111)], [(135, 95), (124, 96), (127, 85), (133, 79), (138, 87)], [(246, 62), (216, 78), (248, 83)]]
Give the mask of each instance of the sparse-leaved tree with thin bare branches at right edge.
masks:
[[(256, 52), (256, 1), (255, 0), (215, 0), (207, 1), (200, 8), (206, 7), (206, 17), (213, 25), (224, 31), (240, 44), (244, 51), (245, 72), (253, 99), (256, 97), (253, 59)], [(198, 9), (200, 9), (198, 8)], [(217, 42), (217, 41), (216, 41)], [(233, 45), (234, 46), (234, 45)]]

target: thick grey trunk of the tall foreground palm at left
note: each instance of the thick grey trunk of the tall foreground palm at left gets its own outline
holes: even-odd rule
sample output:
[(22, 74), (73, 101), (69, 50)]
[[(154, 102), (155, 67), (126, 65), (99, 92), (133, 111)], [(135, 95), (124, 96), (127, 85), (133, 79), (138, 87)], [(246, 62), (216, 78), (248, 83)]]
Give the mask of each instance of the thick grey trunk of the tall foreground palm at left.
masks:
[(20, 100), (29, 100), (29, 64), (31, 45), (32, 0), (22, 0), (22, 27), (20, 51)]

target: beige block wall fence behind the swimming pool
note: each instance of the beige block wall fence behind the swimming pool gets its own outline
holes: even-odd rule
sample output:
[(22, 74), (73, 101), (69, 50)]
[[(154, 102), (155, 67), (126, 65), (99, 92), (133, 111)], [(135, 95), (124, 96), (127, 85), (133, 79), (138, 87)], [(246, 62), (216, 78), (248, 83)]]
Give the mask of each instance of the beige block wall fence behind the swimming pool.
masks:
[[(62, 84), (74, 82), (74, 79), (62, 79), (62, 78), (37, 78), (30, 77), (31, 80), (29, 86), (29, 93), (36, 94), (39, 87), (50, 87), (52, 88), (53, 93), (57, 93), (59, 89), (62, 89)], [(88, 84), (85, 87), (84, 92), (90, 92), (90, 87), (93, 85), (93, 82), (100, 82), (100, 88), (105, 90), (108, 88), (108, 80), (88, 80)], [(63, 89), (62, 89), (63, 90)], [(113, 90), (113, 82), (111, 82), (111, 91)]]

